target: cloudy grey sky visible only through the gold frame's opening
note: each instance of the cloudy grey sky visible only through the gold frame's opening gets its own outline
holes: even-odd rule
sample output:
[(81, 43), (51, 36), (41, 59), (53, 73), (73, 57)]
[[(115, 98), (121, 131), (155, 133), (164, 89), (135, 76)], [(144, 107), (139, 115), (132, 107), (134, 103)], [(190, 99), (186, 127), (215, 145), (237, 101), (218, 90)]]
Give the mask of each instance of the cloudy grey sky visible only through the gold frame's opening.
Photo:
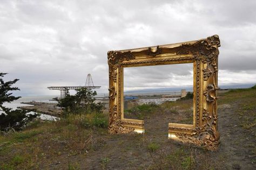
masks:
[(174, 86), (174, 81), (180, 79), (185, 79), (188, 84), (193, 85), (192, 63), (124, 68), (124, 89), (147, 86), (170, 87)]

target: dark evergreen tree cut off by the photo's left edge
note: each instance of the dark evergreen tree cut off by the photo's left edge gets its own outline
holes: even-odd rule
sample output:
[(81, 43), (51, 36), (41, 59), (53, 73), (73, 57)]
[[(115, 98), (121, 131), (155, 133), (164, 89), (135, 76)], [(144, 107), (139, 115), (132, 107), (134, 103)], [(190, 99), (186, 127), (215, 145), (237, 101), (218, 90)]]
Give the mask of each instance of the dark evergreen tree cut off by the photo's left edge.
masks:
[(33, 118), (37, 117), (38, 114), (27, 114), (29, 111), (11, 108), (3, 106), (5, 102), (12, 102), (21, 98), (21, 96), (15, 97), (9, 91), (19, 90), (18, 87), (11, 87), (19, 79), (4, 82), (2, 77), (6, 73), (0, 73), (0, 130), (8, 131), (9, 129), (21, 130), (24, 126), (30, 122)]

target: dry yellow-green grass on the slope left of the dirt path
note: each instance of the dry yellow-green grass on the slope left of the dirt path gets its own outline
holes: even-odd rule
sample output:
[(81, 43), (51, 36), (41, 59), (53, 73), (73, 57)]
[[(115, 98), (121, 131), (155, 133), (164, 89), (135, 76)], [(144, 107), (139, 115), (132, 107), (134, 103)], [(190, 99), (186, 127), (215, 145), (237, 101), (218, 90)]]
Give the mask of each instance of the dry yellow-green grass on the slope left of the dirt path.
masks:
[[(64, 121), (32, 125), (0, 137), (0, 169), (41, 169), (65, 163), (105, 145), (106, 129), (85, 129)], [(64, 162), (55, 162), (63, 159)], [(69, 164), (71, 166), (71, 164)]]

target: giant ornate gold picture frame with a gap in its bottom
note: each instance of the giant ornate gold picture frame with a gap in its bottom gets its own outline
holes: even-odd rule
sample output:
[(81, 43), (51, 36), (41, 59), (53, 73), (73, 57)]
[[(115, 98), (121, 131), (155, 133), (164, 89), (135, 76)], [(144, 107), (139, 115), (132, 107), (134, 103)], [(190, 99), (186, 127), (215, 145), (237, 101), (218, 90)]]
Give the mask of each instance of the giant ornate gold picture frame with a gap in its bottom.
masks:
[(169, 138), (217, 150), (218, 35), (197, 41), (107, 52), (109, 133), (144, 132), (144, 121), (124, 118), (125, 67), (193, 63), (193, 125), (169, 123)]

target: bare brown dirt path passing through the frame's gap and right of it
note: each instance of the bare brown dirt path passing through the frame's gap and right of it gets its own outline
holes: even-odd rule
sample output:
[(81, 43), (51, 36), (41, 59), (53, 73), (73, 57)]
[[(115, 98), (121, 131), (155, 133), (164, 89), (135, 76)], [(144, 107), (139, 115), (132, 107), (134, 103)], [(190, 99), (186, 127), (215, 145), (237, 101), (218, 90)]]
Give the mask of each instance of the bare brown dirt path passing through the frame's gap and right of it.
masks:
[[(256, 169), (256, 126), (242, 127), (248, 116), (242, 107), (254, 103), (252, 100), (255, 99), (248, 101), (244, 98), (219, 104), (218, 151), (205, 151), (169, 140), (168, 123), (185, 123), (190, 114), (164, 111), (144, 119), (144, 134), (111, 135), (106, 130), (102, 134), (95, 131), (93, 135), (104, 141), (100, 147), (65, 158), (63, 155), (54, 161), (62, 163), (52, 164), (50, 169), (66, 169), (69, 164), (78, 169)], [(250, 109), (250, 113), (255, 115), (255, 106)]]

